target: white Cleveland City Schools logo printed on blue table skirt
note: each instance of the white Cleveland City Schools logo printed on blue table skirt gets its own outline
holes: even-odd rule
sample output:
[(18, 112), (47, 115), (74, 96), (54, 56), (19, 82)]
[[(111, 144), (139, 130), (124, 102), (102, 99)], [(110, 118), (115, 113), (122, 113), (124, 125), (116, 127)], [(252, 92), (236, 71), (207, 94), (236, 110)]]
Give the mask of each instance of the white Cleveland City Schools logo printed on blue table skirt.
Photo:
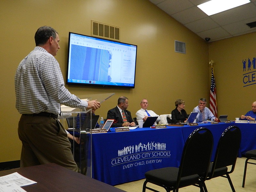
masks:
[(122, 165), (123, 169), (133, 166), (161, 163), (164, 158), (170, 158), (171, 151), (166, 150), (166, 143), (148, 141), (126, 146), (117, 151), (117, 157), (111, 159), (111, 166)]

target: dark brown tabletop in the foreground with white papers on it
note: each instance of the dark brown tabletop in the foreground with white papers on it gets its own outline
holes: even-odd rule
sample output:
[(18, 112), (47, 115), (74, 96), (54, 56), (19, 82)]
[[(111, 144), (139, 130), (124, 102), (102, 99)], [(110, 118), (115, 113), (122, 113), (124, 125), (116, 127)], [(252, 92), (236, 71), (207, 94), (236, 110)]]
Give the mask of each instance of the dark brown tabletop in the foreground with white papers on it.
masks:
[[(37, 182), (35, 184), (22, 187), (28, 192), (124, 192), (121, 189), (115, 188), (111, 185), (92, 179), (54, 163), (0, 171), (0, 176), (9, 175), (14, 172), (18, 172), (23, 177)], [(4, 182), (1, 183), (2, 186), (3, 184)]]

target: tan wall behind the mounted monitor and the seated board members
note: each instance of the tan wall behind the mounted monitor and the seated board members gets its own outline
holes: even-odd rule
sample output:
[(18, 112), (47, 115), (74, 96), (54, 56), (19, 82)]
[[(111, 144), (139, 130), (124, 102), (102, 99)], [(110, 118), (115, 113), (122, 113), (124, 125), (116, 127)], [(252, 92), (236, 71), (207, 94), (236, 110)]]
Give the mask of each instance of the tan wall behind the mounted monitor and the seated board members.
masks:
[[(120, 27), (121, 41), (138, 45), (135, 89), (67, 86), (76, 95), (115, 92), (96, 111), (104, 118), (108, 109), (116, 106), (119, 96), (129, 98), (128, 109), (133, 116), (140, 109), (142, 98), (147, 98), (149, 108), (159, 115), (169, 114), (176, 99), (186, 101), (189, 113), (200, 97), (209, 98), (208, 43), (148, 0), (2, 0), (0, 7), (0, 162), (20, 159), (20, 114), (15, 108), (14, 74), (20, 61), (34, 49), (34, 34), (43, 25), (59, 32), (56, 59), (64, 78), (68, 32), (91, 35), (91, 20)], [(174, 40), (186, 43), (187, 54), (174, 52)], [(218, 55), (218, 50), (212, 52)]]

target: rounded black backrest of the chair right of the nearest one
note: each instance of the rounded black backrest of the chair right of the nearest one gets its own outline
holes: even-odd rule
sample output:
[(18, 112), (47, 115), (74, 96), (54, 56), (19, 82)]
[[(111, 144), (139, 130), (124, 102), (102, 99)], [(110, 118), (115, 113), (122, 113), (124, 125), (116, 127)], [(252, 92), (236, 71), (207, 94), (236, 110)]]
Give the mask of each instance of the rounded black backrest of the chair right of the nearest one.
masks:
[(232, 165), (231, 173), (235, 169), (236, 158), (241, 143), (241, 131), (237, 126), (229, 126), (220, 136), (215, 158), (212, 165), (211, 175), (214, 169)]

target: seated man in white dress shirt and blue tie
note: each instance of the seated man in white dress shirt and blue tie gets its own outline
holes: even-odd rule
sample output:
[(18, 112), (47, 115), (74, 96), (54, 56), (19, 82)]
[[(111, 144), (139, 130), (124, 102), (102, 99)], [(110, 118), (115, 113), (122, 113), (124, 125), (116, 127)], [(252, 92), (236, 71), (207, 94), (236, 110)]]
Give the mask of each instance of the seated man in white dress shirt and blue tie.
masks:
[(156, 119), (156, 122), (155, 124), (157, 124), (157, 122), (159, 122), (161, 119), (160, 119), (160, 116), (157, 115), (154, 111), (152, 110), (147, 110), (148, 108), (148, 100), (147, 99), (143, 99), (141, 100), (140, 102), (140, 106), (141, 106), (141, 109), (139, 111), (136, 112), (136, 116), (137, 116), (137, 120), (140, 120), (140, 119), (143, 119), (143, 122), (146, 121), (146, 119), (151, 116), (151, 117), (158, 117)]

